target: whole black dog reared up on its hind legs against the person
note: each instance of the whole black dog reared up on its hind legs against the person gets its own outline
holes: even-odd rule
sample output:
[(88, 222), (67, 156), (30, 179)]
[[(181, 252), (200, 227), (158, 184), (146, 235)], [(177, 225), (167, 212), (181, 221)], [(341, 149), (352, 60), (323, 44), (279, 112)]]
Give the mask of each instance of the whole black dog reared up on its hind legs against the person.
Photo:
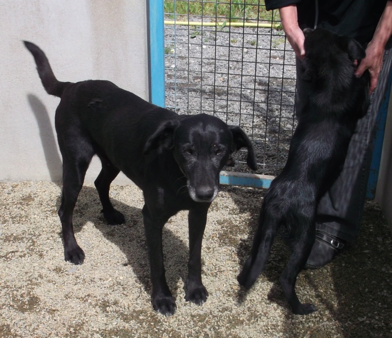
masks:
[(362, 47), (323, 29), (305, 29), (304, 34), (303, 77), (312, 81), (311, 90), (287, 163), (266, 193), (250, 257), (238, 276), (242, 286), (254, 284), (265, 268), (275, 231), (282, 226), (292, 254), (280, 283), (296, 314), (316, 311), (313, 304), (299, 302), (296, 278), (315, 242), (318, 202), (342, 171), (357, 121), (369, 104), (368, 73), (354, 76), (354, 60), (365, 57)]

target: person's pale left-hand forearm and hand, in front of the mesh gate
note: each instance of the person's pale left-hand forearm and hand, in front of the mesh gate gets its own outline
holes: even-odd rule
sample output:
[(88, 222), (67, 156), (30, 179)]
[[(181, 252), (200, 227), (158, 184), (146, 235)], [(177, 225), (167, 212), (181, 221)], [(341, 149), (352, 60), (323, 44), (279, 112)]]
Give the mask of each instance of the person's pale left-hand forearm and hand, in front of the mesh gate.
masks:
[(279, 8), (280, 20), (286, 37), (293, 47), (295, 55), (302, 60), (305, 56), (303, 43), (305, 36), (301, 28), (298, 26), (297, 6), (291, 4), (286, 7)]

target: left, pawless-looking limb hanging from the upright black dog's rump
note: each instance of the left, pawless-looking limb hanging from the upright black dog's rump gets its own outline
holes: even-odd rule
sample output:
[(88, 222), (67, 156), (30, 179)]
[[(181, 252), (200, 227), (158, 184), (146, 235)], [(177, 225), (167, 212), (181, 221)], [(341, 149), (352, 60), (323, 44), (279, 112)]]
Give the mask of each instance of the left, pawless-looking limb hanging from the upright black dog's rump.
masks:
[(237, 280), (241, 286), (250, 288), (263, 272), (271, 245), (276, 234), (276, 229), (280, 223), (279, 215), (273, 215), (263, 203), (260, 211), (259, 225), (253, 239), (253, 246), (249, 258), (245, 261), (243, 270), (238, 275)]

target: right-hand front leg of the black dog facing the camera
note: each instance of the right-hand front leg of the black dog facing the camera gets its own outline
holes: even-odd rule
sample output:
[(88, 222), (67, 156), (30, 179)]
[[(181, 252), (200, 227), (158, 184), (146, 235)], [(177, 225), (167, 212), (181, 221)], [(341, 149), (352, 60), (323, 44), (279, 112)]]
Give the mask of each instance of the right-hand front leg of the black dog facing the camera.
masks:
[(208, 297), (207, 289), (201, 282), (201, 243), (207, 211), (210, 204), (201, 204), (197, 208), (189, 210), (189, 261), (188, 278), (186, 285), (185, 300), (195, 304), (203, 304)]

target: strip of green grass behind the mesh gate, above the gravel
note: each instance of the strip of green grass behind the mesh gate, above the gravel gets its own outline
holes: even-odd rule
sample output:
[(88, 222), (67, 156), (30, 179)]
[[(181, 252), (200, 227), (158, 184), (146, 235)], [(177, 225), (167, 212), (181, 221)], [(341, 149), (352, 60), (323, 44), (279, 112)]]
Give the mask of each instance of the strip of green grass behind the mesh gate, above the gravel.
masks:
[(280, 20), (278, 11), (266, 11), (264, 0), (164, 0), (164, 11), (171, 18), (176, 14), (230, 22)]

